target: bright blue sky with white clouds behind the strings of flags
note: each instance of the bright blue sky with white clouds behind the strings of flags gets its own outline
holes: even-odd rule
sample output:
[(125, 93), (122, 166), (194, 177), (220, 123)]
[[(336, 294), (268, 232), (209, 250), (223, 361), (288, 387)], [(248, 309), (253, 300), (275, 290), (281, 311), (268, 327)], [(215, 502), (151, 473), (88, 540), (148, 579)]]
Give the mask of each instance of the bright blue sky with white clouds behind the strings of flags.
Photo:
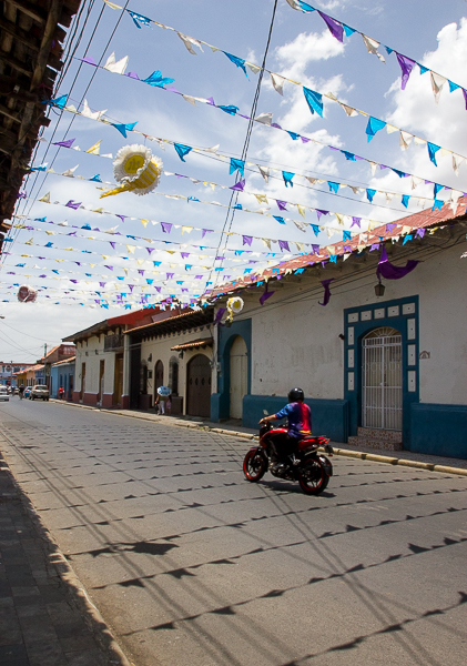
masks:
[[(286, 0), (277, 1), (265, 67), (300, 85), (285, 81), (280, 94), (264, 73), (255, 117), (272, 113), (272, 122), (291, 133), (253, 123), (244, 191), (232, 204), (256, 212), (227, 206), (230, 188), (240, 179), (237, 172), (230, 173), (231, 159), (241, 158), (248, 130), (248, 121), (238, 114), (250, 117), (258, 74), (244, 65), (246, 75), (222, 51), (261, 65), (274, 0), (130, 0), (118, 4), (175, 31), (154, 23), (138, 28), (126, 11), (112, 9), (103, 0), (82, 3), (77, 29), (72, 24), (65, 42), (69, 57), (54, 99), (68, 95), (67, 105), (79, 111), (85, 99), (92, 112), (105, 110), (102, 118), (114, 124), (136, 122), (134, 129), (141, 133), (128, 132), (124, 138), (110, 124), (50, 109), (52, 122), (31, 165), (47, 163), (45, 170), (57, 173), (37, 171), (28, 176), (27, 198), (19, 200), (12, 220), (17, 226), (11, 230), (11, 242), (3, 245), (8, 254), (1, 258), (0, 360), (33, 362), (44, 343), (50, 347), (108, 316), (142, 307), (142, 296), (146, 304), (172, 294), (181, 302), (195, 301), (207, 287), (229, 281), (227, 276), (232, 280), (307, 253), (312, 243), (337, 242), (343, 230), (358, 232), (352, 226), (354, 216), (362, 219), (361, 231), (365, 231), (368, 220), (390, 222), (430, 209), (434, 185), (425, 180), (449, 188), (439, 191), (437, 199), (455, 199), (467, 191), (467, 162), (456, 175), (450, 154), (467, 155), (461, 90), (450, 92), (446, 82), (436, 102), (430, 73), (420, 74), (418, 65), (402, 90), (400, 67), (390, 52), (467, 89), (464, 0), (443, 6), (434, 0), (311, 1), (357, 30), (342, 43), (317, 11), (303, 13)], [(201, 51), (193, 44), (194, 56), (177, 32), (219, 50), (202, 44)], [(367, 51), (358, 32), (380, 42), (377, 50), (385, 62)], [(112, 53), (116, 61), (128, 56), (125, 73), (135, 72), (140, 80), (78, 60), (91, 57), (104, 65)], [(185, 97), (141, 81), (158, 70), (174, 80), (165, 88)], [(420, 141), (413, 139), (402, 150), (398, 130), (388, 132), (385, 127), (368, 141), (368, 119), (361, 113), (348, 115), (328, 97), (323, 98), (323, 117), (312, 114), (303, 87), (334, 95), (348, 108), (441, 147), (435, 157), (437, 167), (424, 141), (417, 144)], [(215, 104), (238, 111), (231, 114), (193, 98), (212, 98)], [(71, 139), (70, 149), (53, 145)], [(99, 141), (100, 155), (84, 152)], [(182, 161), (173, 143), (193, 150)], [(101, 199), (110, 188), (89, 179), (99, 174), (100, 180), (115, 183), (112, 162), (120, 149), (132, 144), (145, 145), (162, 160), (159, 186), (143, 196), (123, 192)], [(73, 150), (77, 145), (80, 151)], [(329, 147), (365, 159), (346, 159)], [(378, 167), (372, 169), (369, 162)], [(267, 182), (258, 164), (270, 168)], [(416, 180), (399, 178), (379, 164)], [(68, 170), (73, 178), (61, 175)], [(285, 185), (282, 171), (295, 174), (293, 186)], [(328, 181), (342, 183), (337, 193)], [(367, 190), (377, 191), (372, 203)], [(402, 195), (410, 196), (407, 206)], [(50, 203), (39, 201), (44, 196)], [(278, 209), (277, 200), (287, 202), (286, 212)], [(67, 206), (70, 201), (87, 210)], [(99, 209), (106, 212), (91, 212)], [(337, 213), (341, 223), (332, 214), (318, 220), (309, 209)], [(257, 214), (261, 210), (264, 214)], [(164, 231), (161, 222), (173, 226)], [(209, 230), (204, 236), (202, 230)], [(230, 235), (222, 234), (223, 230)], [(290, 251), (281, 249), (278, 240), (286, 241)], [(37, 301), (18, 302), (20, 285), (38, 290)]]

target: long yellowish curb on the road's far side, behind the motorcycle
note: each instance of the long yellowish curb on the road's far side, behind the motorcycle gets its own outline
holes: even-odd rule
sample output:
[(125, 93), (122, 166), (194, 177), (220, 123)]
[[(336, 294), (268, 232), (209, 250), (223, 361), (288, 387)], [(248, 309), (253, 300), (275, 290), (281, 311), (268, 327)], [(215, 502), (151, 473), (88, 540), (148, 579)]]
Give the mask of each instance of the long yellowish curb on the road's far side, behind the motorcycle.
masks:
[[(220, 435), (232, 435), (233, 437), (241, 437), (243, 440), (256, 440), (257, 435), (253, 435), (251, 433), (242, 433), (238, 431), (225, 430), (222, 427), (210, 427), (209, 425), (204, 425), (203, 423), (195, 422), (182, 422), (182, 421), (167, 421), (166, 418), (158, 418), (156, 416), (146, 416), (145, 414), (129, 414), (125, 411), (122, 414), (118, 410), (99, 410), (97, 407), (91, 407), (89, 405), (79, 405), (77, 403), (62, 402), (59, 400), (53, 400), (52, 402), (61, 403), (63, 405), (70, 405), (72, 407), (81, 407), (83, 410), (94, 410), (99, 412), (104, 412), (105, 414), (113, 414), (115, 416), (128, 416), (129, 418), (141, 418), (142, 421), (150, 421), (152, 423), (165, 423), (165, 425), (172, 425), (174, 427), (191, 427), (197, 430), (205, 430), (211, 433), (217, 433)], [(409, 461), (405, 458), (392, 457), (387, 455), (379, 455), (376, 453), (366, 453), (359, 451), (352, 451), (349, 448), (337, 448), (333, 446), (334, 453), (336, 455), (343, 455), (345, 457), (354, 457), (361, 461), (370, 461), (374, 463), (384, 463), (387, 465), (399, 465), (400, 467), (416, 467), (418, 470), (426, 470), (428, 472), (438, 472), (440, 474), (456, 474), (457, 476), (467, 476), (467, 470), (463, 467), (450, 467), (447, 465), (436, 465), (435, 463), (423, 463), (422, 461)], [(322, 450), (324, 451), (324, 450)]]

